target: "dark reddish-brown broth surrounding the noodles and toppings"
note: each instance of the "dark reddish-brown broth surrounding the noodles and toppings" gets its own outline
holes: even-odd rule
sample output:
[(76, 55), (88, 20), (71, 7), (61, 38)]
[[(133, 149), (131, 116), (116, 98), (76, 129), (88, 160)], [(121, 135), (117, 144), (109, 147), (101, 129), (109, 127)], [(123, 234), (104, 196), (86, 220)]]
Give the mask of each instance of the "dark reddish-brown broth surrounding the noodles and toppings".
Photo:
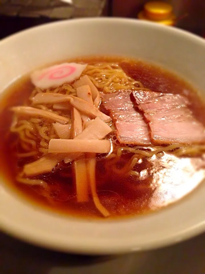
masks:
[[(82, 61), (78, 59), (76, 61)], [(73, 61), (73, 60), (72, 60)], [(74, 60), (75, 61), (75, 60)], [(192, 102), (194, 115), (205, 125), (205, 111), (202, 100), (194, 89), (178, 78), (159, 67), (145, 64), (141, 61), (123, 60), (121, 58), (84, 58), (88, 63), (99, 61), (114, 61), (120, 63), (125, 72), (135, 80), (139, 80), (146, 88), (163, 93), (183, 94)], [(75, 184), (73, 183), (71, 164), (60, 165), (51, 174), (44, 174), (41, 178), (48, 183), (49, 190), (39, 186), (27, 186), (16, 182), (15, 177), (25, 161), (18, 160), (17, 147), (11, 146), (17, 139), (9, 132), (12, 112), (9, 107), (22, 105), (27, 100), (33, 86), (28, 77), (21, 78), (8, 90), (0, 100), (0, 166), (1, 176), (13, 190), (22, 194), (30, 202), (58, 213), (80, 217), (101, 217), (92, 199), (87, 203), (77, 203), (75, 198)], [(123, 166), (132, 154), (125, 154), (120, 163), (113, 164), (112, 160), (99, 160), (96, 168), (97, 190), (102, 204), (110, 211), (112, 217), (133, 216), (149, 212), (171, 204), (191, 192), (205, 177), (205, 170), (199, 168), (203, 160), (199, 158), (177, 158), (165, 154), (164, 160), (171, 161), (169, 168), (153, 169), (152, 176), (145, 180), (136, 180), (119, 174), (119, 164)], [(146, 160), (135, 168), (138, 172), (151, 170)]]

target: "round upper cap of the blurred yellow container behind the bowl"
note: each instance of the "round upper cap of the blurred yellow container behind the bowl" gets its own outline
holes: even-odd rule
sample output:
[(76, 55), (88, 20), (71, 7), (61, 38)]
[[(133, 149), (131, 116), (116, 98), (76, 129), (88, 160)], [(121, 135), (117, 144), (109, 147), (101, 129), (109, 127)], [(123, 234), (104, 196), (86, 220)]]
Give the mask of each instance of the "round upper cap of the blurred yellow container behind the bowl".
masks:
[(173, 7), (163, 1), (150, 1), (144, 5), (144, 15), (149, 20), (162, 21), (168, 19)]

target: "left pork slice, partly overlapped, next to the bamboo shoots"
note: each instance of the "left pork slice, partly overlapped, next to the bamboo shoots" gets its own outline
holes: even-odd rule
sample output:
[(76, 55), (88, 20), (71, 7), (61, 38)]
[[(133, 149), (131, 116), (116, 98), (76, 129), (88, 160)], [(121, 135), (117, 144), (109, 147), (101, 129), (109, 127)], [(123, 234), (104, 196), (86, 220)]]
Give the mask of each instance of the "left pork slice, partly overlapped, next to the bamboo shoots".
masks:
[(121, 144), (149, 145), (147, 124), (130, 99), (131, 91), (103, 94), (103, 107), (110, 113)]

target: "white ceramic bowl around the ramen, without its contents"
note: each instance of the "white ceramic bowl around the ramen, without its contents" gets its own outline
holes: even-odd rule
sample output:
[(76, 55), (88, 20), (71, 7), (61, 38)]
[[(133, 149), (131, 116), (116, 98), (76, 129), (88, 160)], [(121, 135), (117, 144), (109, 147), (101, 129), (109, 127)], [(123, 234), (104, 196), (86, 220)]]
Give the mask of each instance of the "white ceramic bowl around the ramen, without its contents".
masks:
[[(60, 21), (2, 40), (0, 90), (36, 67), (82, 55), (144, 59), (174, 70), (205, 91), (205, 40), (173, 27), (118, 18)], [(159, 212), (106, 222), (48, 213), (2, 185), (0, 227), (20, 239), (59, 251), (111, 254), (152, 249), (205, 230), (205, 184)]]

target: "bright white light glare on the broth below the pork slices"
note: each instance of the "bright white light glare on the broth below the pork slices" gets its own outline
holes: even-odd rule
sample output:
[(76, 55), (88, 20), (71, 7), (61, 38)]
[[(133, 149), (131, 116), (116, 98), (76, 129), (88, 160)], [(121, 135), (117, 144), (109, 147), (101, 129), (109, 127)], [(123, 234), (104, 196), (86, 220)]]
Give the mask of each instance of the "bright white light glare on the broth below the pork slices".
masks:
[(152, 188), (155, 189), (148, 203), (150, 209), (167, 206), (191, 192), (205, 177), (201, 158), (181, 158), (165, 155), (161, 158), (169, 167), (159, 166), (153, 172)]

